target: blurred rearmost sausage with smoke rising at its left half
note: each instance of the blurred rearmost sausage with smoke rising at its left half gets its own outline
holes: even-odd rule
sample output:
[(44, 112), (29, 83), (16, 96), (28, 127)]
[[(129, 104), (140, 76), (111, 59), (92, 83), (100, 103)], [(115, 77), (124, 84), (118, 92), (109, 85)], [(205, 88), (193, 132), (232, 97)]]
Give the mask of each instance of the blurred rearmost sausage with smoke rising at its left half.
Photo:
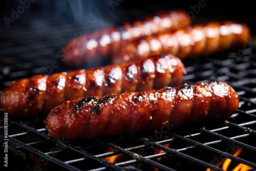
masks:
[(139, 37), (168, 32), (190, 24), (191, 20), (183, 10), (158, 12), (144, 20), (76, 37), (63, 47), (61, 58), (69, 66), (83, 65), (96, 57), (104, 58)]

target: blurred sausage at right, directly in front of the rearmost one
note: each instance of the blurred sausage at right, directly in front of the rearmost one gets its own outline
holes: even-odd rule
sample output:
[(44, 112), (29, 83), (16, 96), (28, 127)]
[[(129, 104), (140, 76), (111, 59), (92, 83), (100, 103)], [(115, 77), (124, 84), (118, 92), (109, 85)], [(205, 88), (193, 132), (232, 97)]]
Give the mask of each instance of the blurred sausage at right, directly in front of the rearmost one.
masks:
[(165, 53), (181, 59), (207, 56), (242, 47), (247, 43), (249, 36), (247, 25), (231, 21), (187, 26), (130, 42), (113, 55), (112, 62), (134, 61)]

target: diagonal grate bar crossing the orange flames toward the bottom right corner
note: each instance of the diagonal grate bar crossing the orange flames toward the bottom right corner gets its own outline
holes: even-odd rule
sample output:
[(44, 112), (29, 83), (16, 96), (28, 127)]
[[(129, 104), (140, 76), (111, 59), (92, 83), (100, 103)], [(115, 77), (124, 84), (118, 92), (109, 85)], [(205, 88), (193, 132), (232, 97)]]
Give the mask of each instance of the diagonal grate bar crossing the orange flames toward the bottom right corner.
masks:
[(213, 153), (217, 153), (217, 154), (219, 154), (219, 155), (223, 155), (223, 156), (225, 156), (225, 157), (227, 157), (227, 158), (230, 158), (230, 159), (232, 159), (232, 160), (235, 160), (235, 161), (244, 163), (244, 164), (246, 164), (246, 165), (248, 165), (248, 166), (251, 166), (251, 167), (255, 167), (255, 168), (256, 168), (256, 164), (255, 164), (255, 163), (252, 163), (252, 162), (250, 162), (250, 161), (248, 161), (248, 160), (244, 160), (244, 159), (242, 159), (242, 158), (235, 157), (235, 156), (230, 155), (230, 154), (228, 154), (228, 153), (226, 153), (226, 152), (220, 151), (219, 149), (210, 147), (210, 146), (208, 146), (208, 145), (204, 145), (203, 143), (197, 142), (197, 141), (195, 141), (195, 140), (191, 140), (191, 139), (186, 138), (186, 137), (182, 137), (182, 136), (180, 136), (180, 135), (178, 135), (178, 134), (173, 134), (173, 133), (172, 133), (172, 135), (174, 135), (175, 137), (177, 137), (177, 138), (179, 138), (179, 139), (181, 139), (181, 140), (183, 140), (183, 141), (186, 141), (186, 142), (189, 142), (189, 143), (191, 143), (191, 144), (194, 144), (194, 147), (195, 147), (195, 146), (199, 146), (199, 147), (201, 147), (201, 148), (206, 149), (206, 150), (209, 151), (209, 152), (213, 152)]

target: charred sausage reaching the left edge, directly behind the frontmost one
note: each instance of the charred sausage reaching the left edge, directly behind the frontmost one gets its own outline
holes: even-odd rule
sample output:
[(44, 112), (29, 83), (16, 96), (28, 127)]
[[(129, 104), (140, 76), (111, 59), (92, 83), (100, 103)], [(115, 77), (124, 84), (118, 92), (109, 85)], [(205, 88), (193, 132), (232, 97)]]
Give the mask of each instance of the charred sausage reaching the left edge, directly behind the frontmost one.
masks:
[(162, 55), (104, 68), (35, 75), (14, 81), (3, 91), (2, 111), (9, 116), (30, 117), (49, 113), (75, 98), (178, 86), (185, 72), (179, 58)]

